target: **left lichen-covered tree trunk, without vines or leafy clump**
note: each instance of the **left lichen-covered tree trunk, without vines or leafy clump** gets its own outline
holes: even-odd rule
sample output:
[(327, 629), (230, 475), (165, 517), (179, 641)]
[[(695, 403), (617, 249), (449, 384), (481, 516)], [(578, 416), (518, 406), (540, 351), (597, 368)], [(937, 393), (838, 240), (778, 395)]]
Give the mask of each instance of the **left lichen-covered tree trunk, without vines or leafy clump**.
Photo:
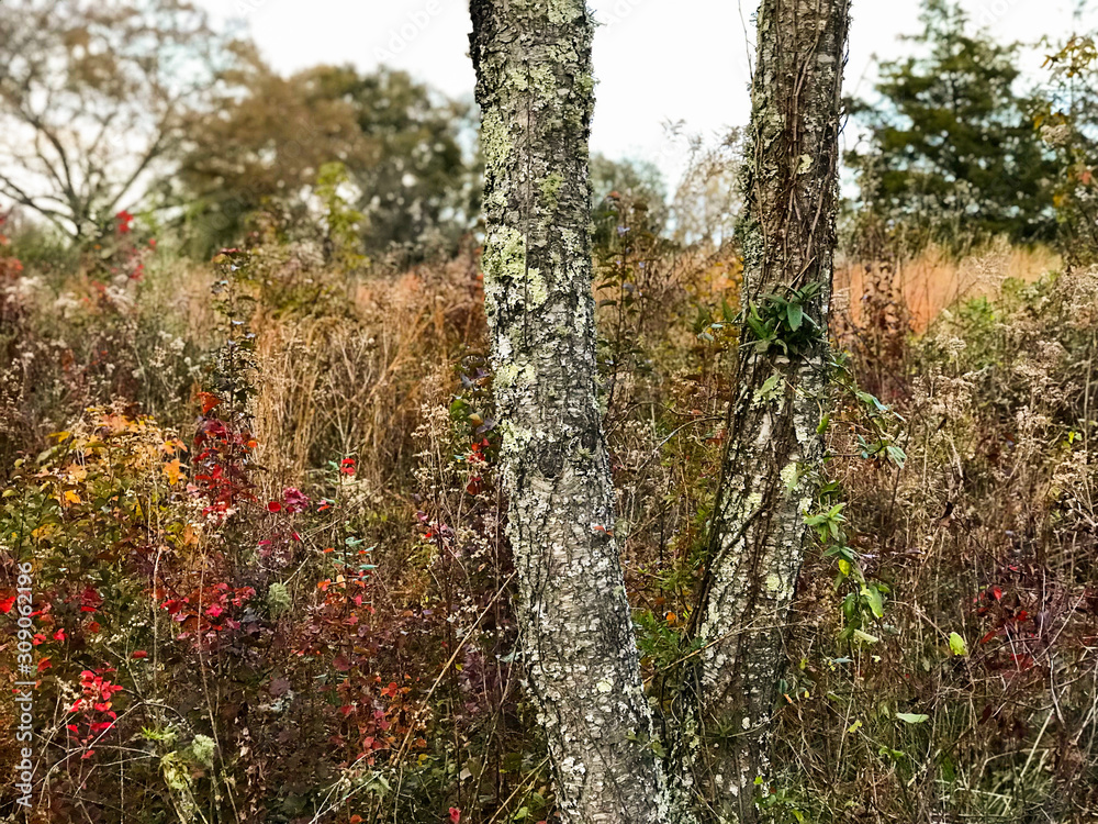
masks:
[(596, 391), (583, 0), (472, 0), (485, 310), (520, 644), (564, 822), (662, 821)]

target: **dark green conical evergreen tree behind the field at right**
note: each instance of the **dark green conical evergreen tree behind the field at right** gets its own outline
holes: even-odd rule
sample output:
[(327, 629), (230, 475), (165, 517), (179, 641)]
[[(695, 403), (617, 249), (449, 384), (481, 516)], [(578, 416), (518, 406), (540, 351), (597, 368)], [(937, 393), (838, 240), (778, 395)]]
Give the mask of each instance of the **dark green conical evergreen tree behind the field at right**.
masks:
[(916, 242), (1051, 240), (1055, 165), (1037, 100), (1016, 88), (1017, 44), (971, 32), (951, 0), (926, 0), (922, 22), (922, 54), (883, 63), (879, 103), (853, 107), (869, 129), (869, 148), (847, 158), (863, 205)]

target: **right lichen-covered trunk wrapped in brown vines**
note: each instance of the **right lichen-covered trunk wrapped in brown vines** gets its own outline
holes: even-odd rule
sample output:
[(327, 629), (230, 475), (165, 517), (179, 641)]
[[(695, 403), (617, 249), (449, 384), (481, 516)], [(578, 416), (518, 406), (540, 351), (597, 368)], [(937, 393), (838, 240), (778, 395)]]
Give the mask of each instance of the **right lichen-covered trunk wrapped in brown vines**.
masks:
[[(698, 610), (706, 647), (687, 678), (693, 741), (679, 772), (705, 797), (705, 817), (757, 820), (771, 778), (769, 745), (785, 664), (789, 608), (808, 542), (824, 447), (837, 200), (840, 86), (850, 0), (762, 0), (744, 163), (744, 308), (769, 296), (804, 303), (807, 345), (760, 353), (741, 329), (737, 396)], [(762, 787), (755, 784), (763, 778)], [(715, 812), (714, 812), (715, 811)]]

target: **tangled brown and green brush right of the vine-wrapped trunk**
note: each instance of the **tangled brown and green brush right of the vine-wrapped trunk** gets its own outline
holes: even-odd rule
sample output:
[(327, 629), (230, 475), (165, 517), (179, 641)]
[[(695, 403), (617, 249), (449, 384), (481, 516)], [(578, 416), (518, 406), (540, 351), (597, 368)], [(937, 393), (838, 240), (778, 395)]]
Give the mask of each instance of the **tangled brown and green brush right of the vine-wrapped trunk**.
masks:
[(1096, 298), (1093, 269), (1007, 281), (909, 339), (889, 361), (903, 468), (867, 471), (832, 423), (853, 546), (889, 595), (836, 643), (829, 559), (803, 575), (787, 819), (1089, 821)]

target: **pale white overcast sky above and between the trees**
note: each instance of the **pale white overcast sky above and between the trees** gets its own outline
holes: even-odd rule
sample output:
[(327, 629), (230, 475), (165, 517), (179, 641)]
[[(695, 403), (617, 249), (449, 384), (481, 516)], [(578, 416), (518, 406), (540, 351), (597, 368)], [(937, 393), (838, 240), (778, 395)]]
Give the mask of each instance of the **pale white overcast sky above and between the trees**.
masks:
[[(468, 0), (197, 0), (217, 18), (243, 18), (268, 62), (291, 73), (320, 63), (384, 63), (447, 94), (471, 98)], [(682, 142), (663, 124), (716, 135), (747, 120), (757, 0), (591, 0), (598, 80), (592, 148), (656, 162), (671, 180)], [(1077, 0), (963, 0), (973, 19), (1004, 41), (1035, 42), (1073, 29)], [(848, 91), (869, 92), (874, 57), (910, 49), (917, 0), (853, 0)], [(1098, 12), (1085, 22), (1091, 25)], [(1040, 60), (1026, 65), (1035, 71)]]

